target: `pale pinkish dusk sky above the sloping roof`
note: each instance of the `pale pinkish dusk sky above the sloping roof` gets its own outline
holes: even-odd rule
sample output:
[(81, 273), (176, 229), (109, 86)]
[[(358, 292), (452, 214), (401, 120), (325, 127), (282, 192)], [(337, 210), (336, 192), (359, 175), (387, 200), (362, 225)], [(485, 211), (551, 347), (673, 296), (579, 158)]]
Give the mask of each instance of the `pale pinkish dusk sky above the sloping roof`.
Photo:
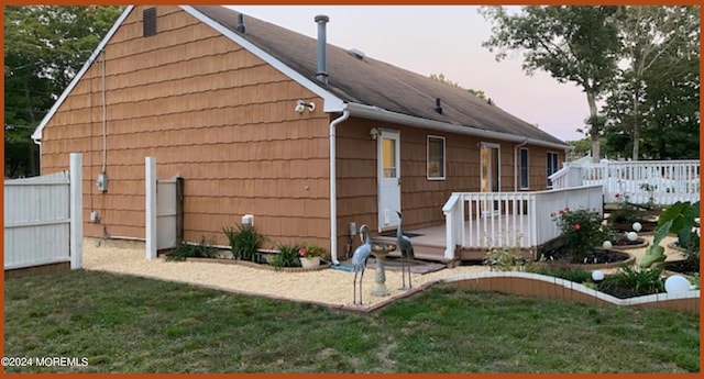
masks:
[[(232, 5), (237, 11), (310, 37), (317, 36), (317, 14), (330, 16), (328, 43), (358, 48), (366, 56), (464, 88), (483, 90), (505, 111), (563, 140), (588, 115), (586, 97), (573, 83), (559, 83), (549, 74), (532, 77), (516, 55), (496, 62), (482, 47), (492, 25), (474, 5)], [(246, 22), (246, 21), (245, 21)]]

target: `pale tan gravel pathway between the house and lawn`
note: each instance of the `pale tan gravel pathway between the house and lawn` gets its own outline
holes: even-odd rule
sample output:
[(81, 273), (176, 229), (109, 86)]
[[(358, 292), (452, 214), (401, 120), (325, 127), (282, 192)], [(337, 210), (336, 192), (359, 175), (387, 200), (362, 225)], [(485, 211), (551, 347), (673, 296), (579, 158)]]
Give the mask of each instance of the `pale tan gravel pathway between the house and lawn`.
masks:
[[(644, 236), (644, 238), (651, 239), (652, 236)], [(668, 237), (662, 245), (667, 246), (673, 241), (674, 238)], [(630, 249), (628, 253), (638, 259), (645, 250), (646, 248)], [(668, 260), (678, 259), (680, 255), (678, 252), (668, 249)], [(166, 261), (162, 258), (146, 260), (143, 243), (102, 242), (95, 238), (84, 241), (84, 268), (187, 282), (238, 293), (354, 308), (352, 304), (354, 274), (336, 269), (285, 272), (217, 263)], [(439, 279), (487, 270), (485, 266), (458, 266), (424, 275), (414, 274), (413, 283), (414, 288), (419, 288)], [(362, 287), (364, 306), (361, 309), (373, 308), (389, 299), (403, 297), (405, 291), (397, 289), (400, 283), (400, 271), (387, 270), (386, 286), (391, 294), (388, 297), (370, 296), (374, 285), (374, 270), (367, 269)]]

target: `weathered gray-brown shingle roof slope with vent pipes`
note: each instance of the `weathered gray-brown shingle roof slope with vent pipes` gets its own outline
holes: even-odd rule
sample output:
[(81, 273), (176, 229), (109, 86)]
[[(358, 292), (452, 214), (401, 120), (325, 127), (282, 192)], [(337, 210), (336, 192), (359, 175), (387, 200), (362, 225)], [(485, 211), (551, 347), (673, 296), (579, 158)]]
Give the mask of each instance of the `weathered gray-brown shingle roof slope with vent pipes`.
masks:
[[(237, 32), (237, 11), (217, 5), (194, 8), (222, 26)], [(304, 77), (316, 80), (315, 38), (249, 15), (244, 15), (244, 38)], [(310, 26), (317, 27), (312, 20)], [(458, 127), (471, 126), (566, 146), (551, 134), (460, 88), (370, 57), (359, 59), (349, 51), (330, 44), (327, 60), (328, 83), (318, 83), (343, 101), (378, 107), (395, 113), (454, 124)], [(435, 111), (436, 98), (441, 99), (442, 114)]]

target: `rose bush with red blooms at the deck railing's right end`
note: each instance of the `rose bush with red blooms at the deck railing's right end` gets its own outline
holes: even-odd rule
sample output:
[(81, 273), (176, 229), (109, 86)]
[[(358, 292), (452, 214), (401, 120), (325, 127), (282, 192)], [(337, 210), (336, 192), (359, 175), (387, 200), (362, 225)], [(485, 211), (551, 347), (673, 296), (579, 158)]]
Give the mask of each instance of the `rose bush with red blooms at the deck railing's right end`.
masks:
[(558, 213), (551, 213), (550, 216), (560, 228), (560, 238), (579, 260), (608, 239), (608, 228), (602, 224), (602, 215), (598, 212), (586, 209), (573, 211), (565, 208)]

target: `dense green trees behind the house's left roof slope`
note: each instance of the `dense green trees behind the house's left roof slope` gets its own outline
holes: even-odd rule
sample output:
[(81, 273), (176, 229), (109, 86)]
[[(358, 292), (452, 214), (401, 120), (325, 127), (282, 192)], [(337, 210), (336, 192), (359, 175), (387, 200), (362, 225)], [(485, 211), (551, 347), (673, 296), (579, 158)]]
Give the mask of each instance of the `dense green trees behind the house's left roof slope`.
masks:
[(98, 46), (122, 7), (4, 8), (6, 176), (38, 174), (32, 131)]

